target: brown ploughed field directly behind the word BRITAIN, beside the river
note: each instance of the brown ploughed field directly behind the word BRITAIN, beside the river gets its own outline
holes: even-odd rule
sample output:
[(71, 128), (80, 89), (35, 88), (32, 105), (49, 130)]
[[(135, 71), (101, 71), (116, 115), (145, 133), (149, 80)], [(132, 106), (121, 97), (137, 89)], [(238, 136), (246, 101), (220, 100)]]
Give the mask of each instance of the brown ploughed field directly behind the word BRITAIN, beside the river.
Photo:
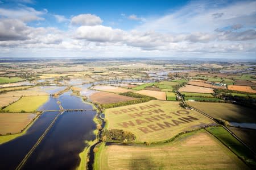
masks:
[(95, 92), (90, 96), (90, 99), (95, 103), (108, 104), (108, 103), (130, 101), (137, 98), (122, 96), (119, 94), (108, 93), (108, 92)]

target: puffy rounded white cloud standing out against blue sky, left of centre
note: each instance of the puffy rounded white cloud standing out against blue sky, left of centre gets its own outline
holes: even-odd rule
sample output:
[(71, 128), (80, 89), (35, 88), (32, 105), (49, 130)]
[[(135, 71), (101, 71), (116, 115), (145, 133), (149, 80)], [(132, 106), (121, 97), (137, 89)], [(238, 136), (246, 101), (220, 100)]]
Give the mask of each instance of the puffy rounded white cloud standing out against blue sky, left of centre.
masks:
[(71, 19), (72, 25), (96, 26), (103, 22), (100, 17), (92, 14), (80, 14)]

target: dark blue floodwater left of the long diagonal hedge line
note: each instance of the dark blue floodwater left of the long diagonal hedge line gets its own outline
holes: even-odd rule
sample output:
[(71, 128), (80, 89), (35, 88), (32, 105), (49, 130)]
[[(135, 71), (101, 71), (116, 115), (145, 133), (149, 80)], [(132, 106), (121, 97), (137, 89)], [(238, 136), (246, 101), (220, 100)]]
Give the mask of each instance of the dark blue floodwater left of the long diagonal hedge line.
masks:
[(0, 144), (0, 169), (15, 169), (59, 112), (44, 112), (23, 136)]

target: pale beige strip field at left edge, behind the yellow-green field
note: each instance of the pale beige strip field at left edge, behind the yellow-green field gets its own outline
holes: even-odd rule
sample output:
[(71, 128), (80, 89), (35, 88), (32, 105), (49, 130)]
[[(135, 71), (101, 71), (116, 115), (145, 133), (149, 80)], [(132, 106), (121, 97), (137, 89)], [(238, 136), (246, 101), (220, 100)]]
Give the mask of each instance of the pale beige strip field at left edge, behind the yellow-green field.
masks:
[(0, 94), (0, 98), (1, 97), (20, 97), (20, 96), (46, 96), (46, 95), (48, 95), (47, 92), (45, 92), (39, 86), (36, 86), (34, 88), (29, 88), (26, 90), (3, 93), (3, 94)]

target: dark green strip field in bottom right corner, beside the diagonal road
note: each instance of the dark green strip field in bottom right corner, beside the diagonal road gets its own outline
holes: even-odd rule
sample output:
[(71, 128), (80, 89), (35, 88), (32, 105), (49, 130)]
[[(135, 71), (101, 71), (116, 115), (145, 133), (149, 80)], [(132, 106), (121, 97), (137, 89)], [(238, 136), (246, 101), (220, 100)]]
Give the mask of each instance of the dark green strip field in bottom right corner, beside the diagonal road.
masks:
[(228, 131), (223, 127), (208, 127), (206, 128), (211, 134), (216, 136), (218, 140), (224, 143), (226, 146), (230, 148), (236, 155), (240, 156), (247, 163), (256, 168), (256, 162), (253, 153), (243, 146), (236, 138), (234, 138)]

